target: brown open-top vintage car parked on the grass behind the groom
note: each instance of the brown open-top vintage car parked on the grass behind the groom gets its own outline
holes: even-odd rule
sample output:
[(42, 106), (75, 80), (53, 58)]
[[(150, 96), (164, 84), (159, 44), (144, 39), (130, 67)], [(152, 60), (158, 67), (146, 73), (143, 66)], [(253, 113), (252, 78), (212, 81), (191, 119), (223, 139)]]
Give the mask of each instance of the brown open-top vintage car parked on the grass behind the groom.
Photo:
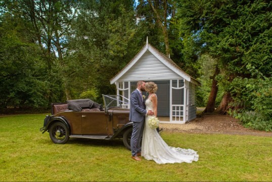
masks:
[(104, 107), (89, 99), (69, 100), (52, 104), (40, 128), (48, 131), (52, 142), (65, 144), (69, 138), (113, 140), (122, 138), (130, 150), (132, 122), (128, 121), (128, 102), (122, 96), (103, 95)]

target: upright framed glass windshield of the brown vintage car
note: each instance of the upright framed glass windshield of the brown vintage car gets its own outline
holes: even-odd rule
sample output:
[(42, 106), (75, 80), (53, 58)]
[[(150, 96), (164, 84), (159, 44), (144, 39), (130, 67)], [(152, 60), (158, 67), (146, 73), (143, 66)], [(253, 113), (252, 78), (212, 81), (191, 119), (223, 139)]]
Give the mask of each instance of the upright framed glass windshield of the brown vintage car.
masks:
[(102, 95), (106, 111), (112, 107), (128, 108), (129, 100), (120, 95)]

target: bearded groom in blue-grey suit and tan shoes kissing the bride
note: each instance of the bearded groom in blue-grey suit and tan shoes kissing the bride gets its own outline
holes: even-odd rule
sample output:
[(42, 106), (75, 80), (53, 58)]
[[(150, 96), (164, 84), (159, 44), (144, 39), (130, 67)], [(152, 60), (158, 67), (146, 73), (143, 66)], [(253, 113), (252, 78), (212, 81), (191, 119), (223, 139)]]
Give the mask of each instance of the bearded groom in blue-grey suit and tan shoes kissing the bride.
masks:
[(141, 161), (141, 139), (144, 131), (146, 115), (153, 115), (151, 110), (145, 110), (146, 105), (142, 92), (145, 91), (145, 81), (137, 82), (137, 89), (130, 95), (129, 121), (133, 122), (130, 148), (132, 159)]

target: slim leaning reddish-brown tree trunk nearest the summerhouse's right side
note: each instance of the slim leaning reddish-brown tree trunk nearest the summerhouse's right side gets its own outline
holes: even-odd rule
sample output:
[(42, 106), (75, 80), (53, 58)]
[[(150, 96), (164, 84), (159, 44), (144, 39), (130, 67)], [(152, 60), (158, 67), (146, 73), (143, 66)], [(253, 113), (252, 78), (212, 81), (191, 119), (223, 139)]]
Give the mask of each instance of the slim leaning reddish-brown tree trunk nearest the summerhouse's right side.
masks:
[(210, 92), (210, 96), (208, 99), (208, 103), (207, 106), (205, 108), (205, 110), (203, 111), (203, 113), (212, 113), (214, 111), (214, 106), (215, 106), (215, 100), (216, 100), (216, 96), (217, 96), (217, 92), (218, 92), (218, 86), (217, 86), (217, 80), (215, 79), (215, 76), (218, 75), (220, 72), (219, 68), (216, 66), (215, 67), (215, 72), (212, 76), (212, 85), (211, 85), (211, 92)]

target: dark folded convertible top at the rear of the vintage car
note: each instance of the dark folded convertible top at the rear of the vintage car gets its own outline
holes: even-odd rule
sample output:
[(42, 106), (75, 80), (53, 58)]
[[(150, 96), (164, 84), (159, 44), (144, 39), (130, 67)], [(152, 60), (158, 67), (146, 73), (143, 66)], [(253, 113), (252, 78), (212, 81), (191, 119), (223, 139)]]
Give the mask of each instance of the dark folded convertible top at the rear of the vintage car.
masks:
[(82, 109), (102, 109), (102, 105), (90, 99), (67, 100), (68, 109), (80, 112)]

